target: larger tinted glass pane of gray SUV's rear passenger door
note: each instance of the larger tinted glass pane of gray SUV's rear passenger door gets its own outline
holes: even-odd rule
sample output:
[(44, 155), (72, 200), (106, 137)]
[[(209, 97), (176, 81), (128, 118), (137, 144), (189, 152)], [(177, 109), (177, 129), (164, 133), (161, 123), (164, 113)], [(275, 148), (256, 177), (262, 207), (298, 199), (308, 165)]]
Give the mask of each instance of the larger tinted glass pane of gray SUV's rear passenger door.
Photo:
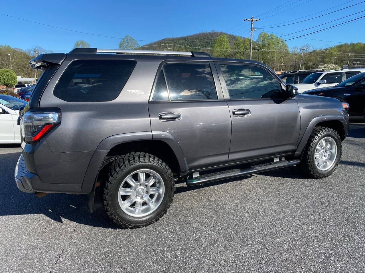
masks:
[(217, 99), (209, 64), (167, 63), (163, 69), (171, 100)]

